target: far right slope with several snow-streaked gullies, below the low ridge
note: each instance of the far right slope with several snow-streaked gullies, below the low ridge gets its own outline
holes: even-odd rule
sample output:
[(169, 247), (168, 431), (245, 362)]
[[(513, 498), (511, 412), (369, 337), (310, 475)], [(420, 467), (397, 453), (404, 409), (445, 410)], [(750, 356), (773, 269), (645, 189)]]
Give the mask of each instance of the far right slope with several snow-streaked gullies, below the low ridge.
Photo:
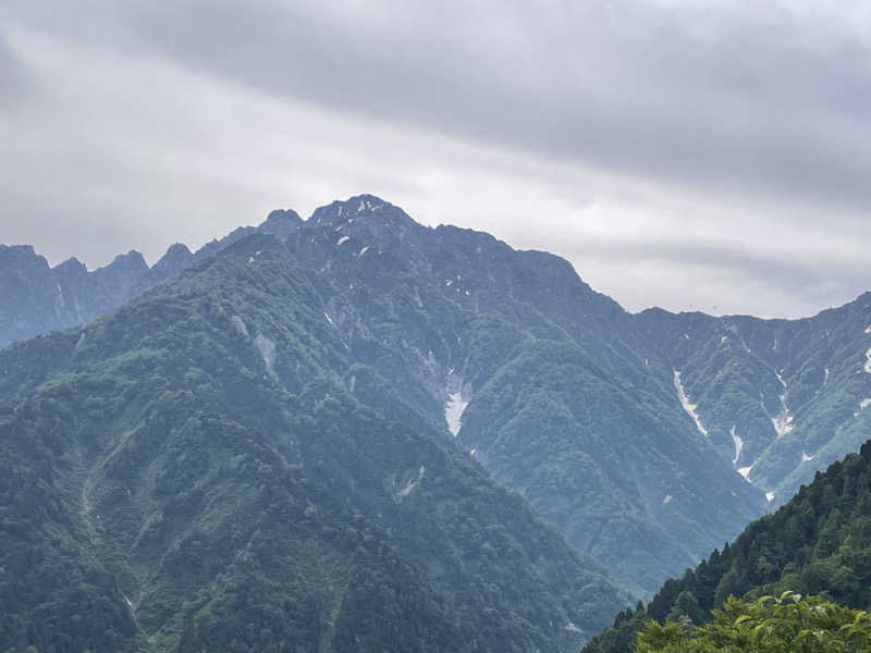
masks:
[(635, 319), (651, 359), (680, 372), (712, 444), (773, 505), (867, 440), (871, 294), (802, 320)]

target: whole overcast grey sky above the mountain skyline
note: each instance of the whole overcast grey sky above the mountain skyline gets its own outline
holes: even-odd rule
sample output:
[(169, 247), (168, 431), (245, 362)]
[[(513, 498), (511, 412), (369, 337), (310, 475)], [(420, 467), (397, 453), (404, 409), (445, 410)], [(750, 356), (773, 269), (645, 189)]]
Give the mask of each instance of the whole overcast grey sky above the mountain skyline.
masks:
[(7, 0), (0, 160), (52, 264), (372, 193), (629, 310), (812, 315), (871, 288), (871, 3)]

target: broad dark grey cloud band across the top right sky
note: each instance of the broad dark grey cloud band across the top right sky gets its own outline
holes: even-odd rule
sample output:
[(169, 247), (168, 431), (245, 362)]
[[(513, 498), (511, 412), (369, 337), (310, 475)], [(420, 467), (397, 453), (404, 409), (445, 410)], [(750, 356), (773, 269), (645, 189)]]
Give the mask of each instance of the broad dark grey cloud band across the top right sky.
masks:
[(68, 11), (51, 12), (54, 28), (339, 111), (728, 195), (871, 206), (869, 39), (831, 12), (198, 0)]

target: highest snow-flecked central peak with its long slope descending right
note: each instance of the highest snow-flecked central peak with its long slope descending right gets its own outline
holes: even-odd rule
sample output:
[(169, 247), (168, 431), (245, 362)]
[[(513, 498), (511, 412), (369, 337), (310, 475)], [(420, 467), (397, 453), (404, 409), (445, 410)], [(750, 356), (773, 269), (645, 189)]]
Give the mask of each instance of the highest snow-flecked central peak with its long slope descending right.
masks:
[(625, 586), (654, 591), (764, 509), (566, 261), (371, 196), (287, 245), (351, 355)]

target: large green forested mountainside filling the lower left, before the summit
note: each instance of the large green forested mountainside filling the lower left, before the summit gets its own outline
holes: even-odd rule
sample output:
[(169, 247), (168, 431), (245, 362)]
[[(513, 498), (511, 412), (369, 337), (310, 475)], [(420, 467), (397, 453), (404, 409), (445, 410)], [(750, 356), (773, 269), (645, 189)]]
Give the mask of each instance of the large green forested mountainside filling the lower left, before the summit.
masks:
[(565, 651), (626, 603), (309, 273), (249, 235), (0, 353), (4, 651)]

